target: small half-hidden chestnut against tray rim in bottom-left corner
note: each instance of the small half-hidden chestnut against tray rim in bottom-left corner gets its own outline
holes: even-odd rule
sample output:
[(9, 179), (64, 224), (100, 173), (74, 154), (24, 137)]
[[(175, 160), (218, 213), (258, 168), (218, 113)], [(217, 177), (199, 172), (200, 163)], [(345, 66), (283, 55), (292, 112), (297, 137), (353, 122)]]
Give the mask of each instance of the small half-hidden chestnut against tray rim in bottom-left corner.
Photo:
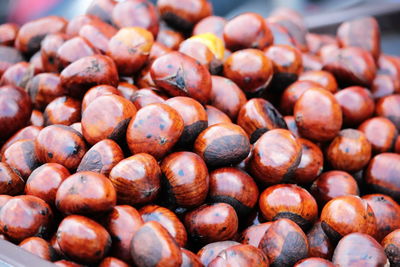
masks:
[(28, 237), (18, 246), (47, 261), (54, 260), (56, 256), (50, 243), (40, 237)]

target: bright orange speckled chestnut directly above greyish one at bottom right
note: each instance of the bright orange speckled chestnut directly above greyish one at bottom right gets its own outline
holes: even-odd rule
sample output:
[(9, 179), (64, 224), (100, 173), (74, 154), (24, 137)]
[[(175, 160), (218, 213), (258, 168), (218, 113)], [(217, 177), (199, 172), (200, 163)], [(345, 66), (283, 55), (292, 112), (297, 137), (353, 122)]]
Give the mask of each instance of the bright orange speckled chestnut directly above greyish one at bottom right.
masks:
[(331, 240), (360, 232), (376, 235), (375, 214), (368, 202), (358, 196), (340, 196), (329, 201), (321, 212), (321, 225)]

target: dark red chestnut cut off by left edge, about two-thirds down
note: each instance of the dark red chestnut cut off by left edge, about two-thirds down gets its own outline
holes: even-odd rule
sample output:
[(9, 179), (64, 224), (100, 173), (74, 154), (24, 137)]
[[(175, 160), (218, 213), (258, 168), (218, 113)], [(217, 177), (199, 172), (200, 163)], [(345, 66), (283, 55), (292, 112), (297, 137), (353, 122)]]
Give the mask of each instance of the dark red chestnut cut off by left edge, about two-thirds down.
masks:
[(15, 196), (24, 190), (25, 182), (19, 172), (0, 162), (0, 194)]

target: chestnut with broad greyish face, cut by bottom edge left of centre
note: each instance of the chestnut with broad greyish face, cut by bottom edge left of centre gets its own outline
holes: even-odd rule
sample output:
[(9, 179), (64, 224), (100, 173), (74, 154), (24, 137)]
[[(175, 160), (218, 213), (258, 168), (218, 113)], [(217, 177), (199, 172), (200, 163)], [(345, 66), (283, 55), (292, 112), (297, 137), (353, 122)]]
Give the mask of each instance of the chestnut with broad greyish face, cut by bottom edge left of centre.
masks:
[(182, 253), (168, 231), (158, 222), (143, 224), (133, 235), (131, 256), (136, 266), (181, 266)]

